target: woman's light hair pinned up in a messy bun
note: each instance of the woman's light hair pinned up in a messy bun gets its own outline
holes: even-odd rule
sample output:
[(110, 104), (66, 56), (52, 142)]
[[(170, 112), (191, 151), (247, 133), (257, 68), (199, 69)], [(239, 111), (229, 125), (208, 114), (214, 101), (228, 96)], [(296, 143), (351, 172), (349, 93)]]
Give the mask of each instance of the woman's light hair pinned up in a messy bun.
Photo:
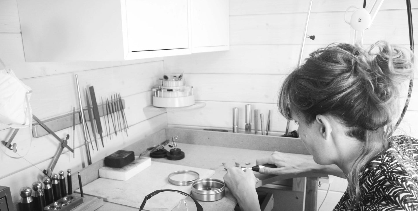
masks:
[(369, 49), (333, 43), (312, 52), (280, 89), (278, 106), (285, 118), (296, 111), (310, 125), (318, 114), (331, 115), (349, 129), (347, 136), (363, 143), (347, 175), (353, 206), (362, 197), (359, 173), (389, 147), (399, 114), (399, 87), (413, 78), (413, 68), (409, 49), (385, 41)]

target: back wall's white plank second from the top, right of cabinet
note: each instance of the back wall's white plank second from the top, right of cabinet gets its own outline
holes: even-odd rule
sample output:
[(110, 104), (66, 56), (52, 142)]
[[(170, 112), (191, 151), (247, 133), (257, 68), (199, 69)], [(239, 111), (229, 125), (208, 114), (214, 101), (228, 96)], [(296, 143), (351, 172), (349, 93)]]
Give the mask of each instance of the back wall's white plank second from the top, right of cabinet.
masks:
[[(417, 17), (418, 9), (412, 11)], [(237, 15), (230, 17), (231, 45), (301, 44), (306, 22), (304, 13)], [(414, 28), (418, 23), (413, 22)], [(344, 22), (344, 12), (312, 13), (306, 44), (349, 42), (350, 26)], [(386, 38), (393, 44), (409, 44), (408, 22), (405, 10), (382, 10), (370, 29), (365, 30), (364, 43)], [(418, 35), (414, 34), (414, 39)]]

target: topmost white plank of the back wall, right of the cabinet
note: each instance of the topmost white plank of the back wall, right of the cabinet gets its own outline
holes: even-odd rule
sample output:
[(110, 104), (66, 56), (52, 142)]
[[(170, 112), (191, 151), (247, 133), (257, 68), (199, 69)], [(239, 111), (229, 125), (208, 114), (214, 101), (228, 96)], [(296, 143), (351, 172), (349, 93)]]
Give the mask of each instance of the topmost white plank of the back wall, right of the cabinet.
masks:
[[(278, 0), (230, 0), (229, 15), (252, 15), (272, 13), (306, 13), (309, 0), (278, 1)], [(367, 1), (367, 4), (372, 1)], [(312, 13), (345, 11), (351, 5), (363, 6), (362, 0), (314, 0)], [(411, 8), (418, 8), (417, 1), (411, 1)], [(385, 0), (380, 10), (406, 9), (405, 1)]]

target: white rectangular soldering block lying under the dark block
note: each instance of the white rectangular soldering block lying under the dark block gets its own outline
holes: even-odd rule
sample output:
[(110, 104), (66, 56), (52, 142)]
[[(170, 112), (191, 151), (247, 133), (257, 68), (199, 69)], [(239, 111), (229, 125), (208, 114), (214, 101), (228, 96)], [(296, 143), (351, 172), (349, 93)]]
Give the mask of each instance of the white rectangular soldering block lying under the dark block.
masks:
[(135, 156), (134, 161), (122, 168), (112, 168), (108, 166), (99, 168), (99, 177), (127, 181), (145, 168), (148, 168), (148, 166), (151, 166), (151, 158)]

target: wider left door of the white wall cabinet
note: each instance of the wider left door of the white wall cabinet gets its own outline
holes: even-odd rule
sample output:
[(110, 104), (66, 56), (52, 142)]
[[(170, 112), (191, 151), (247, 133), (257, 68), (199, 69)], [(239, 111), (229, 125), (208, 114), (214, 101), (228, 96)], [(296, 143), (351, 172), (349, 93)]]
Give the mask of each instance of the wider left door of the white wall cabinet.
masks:
[(189, 48), (188, 0), (127, 0), (131, 52)]

